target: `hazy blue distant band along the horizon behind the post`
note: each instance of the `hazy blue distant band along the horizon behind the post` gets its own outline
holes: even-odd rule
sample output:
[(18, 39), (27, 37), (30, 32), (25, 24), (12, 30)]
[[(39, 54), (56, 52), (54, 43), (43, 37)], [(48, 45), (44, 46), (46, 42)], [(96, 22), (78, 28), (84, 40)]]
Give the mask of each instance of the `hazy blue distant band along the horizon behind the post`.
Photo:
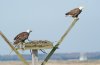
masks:
[[(46, 54), (39, 54), (39, 60), (44, 60)], [(86, 53), (87, 60), (100, 60), (100, 52)], [(31, 55), (23, 55), (26, 60), (31, 60)], [(80, 53), (57, 53), (53, 54), (50, 60), (78, 60)], [(0, 55), (0, 61), (19, 61), (16, 55)]]

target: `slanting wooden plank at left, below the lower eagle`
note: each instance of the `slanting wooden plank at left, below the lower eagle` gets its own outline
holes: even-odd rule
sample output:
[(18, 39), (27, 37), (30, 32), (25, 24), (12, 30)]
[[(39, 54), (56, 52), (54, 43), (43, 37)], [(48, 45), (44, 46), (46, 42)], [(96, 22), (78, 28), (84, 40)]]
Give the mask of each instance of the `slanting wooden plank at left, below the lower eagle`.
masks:
[(14, 46), (10, 43), (10, 41), (6, 38), (6, 36), (0, 31), (1, 37), (7, 42), (7, 44), (10, 46), (10, 48), (17, 54), (19, 59), (24, 63), (24, 65), (29, 65), (26, 60), (23, 58), (23, 56), (14, 48)]

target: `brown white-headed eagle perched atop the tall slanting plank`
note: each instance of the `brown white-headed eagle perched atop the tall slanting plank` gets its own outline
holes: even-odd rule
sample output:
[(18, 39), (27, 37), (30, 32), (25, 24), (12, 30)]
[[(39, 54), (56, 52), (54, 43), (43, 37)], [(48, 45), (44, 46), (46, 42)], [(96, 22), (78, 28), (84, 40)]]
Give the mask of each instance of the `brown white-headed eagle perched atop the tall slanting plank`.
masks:
[(78, 15), (82, 12), (83, 7), (75, 8), (69, 12), (67, 12), (65, 15), (72, 16), (73, 18), (77, 18)]

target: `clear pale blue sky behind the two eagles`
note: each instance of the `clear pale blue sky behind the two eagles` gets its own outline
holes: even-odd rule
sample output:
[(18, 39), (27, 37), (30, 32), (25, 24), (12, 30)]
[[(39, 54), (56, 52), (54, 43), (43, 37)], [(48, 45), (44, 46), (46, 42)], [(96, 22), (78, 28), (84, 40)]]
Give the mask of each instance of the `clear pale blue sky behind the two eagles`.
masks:
[[(55, 53), (99, 52), (99, 2), (99, 0), (0, 0), (0, 31), (12, 44), (17, 34), (31, 29), (30, 40), (49, 40), (55, 45), (57, 43), (55, 41), (61, 38), (72, 21), (72, 17), (65, 17), (65, 13), (83, 6), (80, 19)], [(0, 55), (7, 55), (10, 51), (10, 47), (0, 37)], [(29, 51), (20, 53), (30, 54)]]

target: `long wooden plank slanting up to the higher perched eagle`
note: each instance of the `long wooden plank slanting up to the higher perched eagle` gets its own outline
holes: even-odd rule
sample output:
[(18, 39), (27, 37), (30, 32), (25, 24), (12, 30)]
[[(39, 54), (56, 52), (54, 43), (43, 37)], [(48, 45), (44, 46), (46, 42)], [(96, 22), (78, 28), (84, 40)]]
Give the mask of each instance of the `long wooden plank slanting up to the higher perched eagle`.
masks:
[(56, 49), (58, 48), (58, 46), (61, 44), (61, 42), (64, 40), (64, 38), (66, 37), (66, 35), (70, 32), (70, 30), (72, 29), (72, 27), (75, 25), (75, 23), (78, 21), (78, 18), (75, 18), (72, 23), (70, 24), (69, 28), (65, 31), (65, 33), (62, 35), (62, 37), (60, 38), (60, 40), (57, 42), (57, 44), (54, 46), (54, 48), (50, 51), (50, 53), (47, 55), (47, 57), (45, 58), (45, 60), (42, 62), (41, 65), (45, 65), (47, 63), (47, 61), (50, 59), (50, 57), (52, 56), (52, 54), (56, 51)]

